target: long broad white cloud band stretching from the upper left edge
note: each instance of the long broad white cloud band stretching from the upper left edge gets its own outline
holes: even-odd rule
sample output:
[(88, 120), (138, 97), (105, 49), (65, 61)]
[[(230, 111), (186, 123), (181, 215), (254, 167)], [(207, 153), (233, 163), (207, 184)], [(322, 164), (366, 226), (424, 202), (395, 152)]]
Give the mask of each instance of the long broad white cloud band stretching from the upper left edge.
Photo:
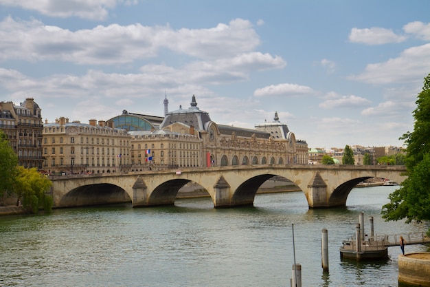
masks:
[[(82, 65), (133, 63), (157, 56), (161, 48), (201, 59), (228, 59), (242, 55), (240, 62), (268, 54), (250, 54), (260, 44), (251, 23), (242, 19), (210, 29), (172, 30), (166, 26), (111, 24), (89, 30), (70, 31), (41, 21), (0, 22), (0, 61), (68, 61)], [(261, 61), (261, 60), (259, 60)], [(278, 59), (278, 61), (283, 61)]]

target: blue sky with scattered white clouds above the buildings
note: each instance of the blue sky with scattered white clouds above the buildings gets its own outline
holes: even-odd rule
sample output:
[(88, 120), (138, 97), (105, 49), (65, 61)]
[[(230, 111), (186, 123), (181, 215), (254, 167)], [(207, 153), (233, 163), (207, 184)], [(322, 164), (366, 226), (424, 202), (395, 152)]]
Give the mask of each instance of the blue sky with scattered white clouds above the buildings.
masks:
[(0, 0), (0, 101), (49, 123), (190, 107), (308, 147), (402, 146), (430, 73), (428, 0)]

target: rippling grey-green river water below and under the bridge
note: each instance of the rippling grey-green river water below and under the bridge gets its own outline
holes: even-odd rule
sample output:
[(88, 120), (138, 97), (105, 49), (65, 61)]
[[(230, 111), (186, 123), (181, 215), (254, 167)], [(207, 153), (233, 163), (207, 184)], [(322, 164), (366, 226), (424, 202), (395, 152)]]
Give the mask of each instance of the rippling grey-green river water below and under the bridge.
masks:
[[(290, 286), (293, 256), (302, 286), (398, 286), (400, 248), (385, 262), (343, 262), (339, 247), (359, 213), (378, 234), (428, 226), (384, 222), (396, 187), (353, 189), (345, 209), (309, 210), (302, 192), (256, 195), (253, 207), (214, 209), (210, 198), (175, 206), (109, 206), (0, 217), (0, 286)], [(321, 268), (328, 230), (329, 273)], [(406, 252), (428, 251), (406, 246)]]

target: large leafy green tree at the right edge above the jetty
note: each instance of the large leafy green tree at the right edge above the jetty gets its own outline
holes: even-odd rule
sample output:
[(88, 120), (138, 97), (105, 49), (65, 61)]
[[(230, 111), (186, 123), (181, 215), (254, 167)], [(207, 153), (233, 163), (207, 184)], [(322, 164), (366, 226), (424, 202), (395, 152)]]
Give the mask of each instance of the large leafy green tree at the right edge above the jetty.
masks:
[(381, 211), (385, 220), (421, 222), (430, 220), (430, 74), (416, 100), (414, 131), (400, 137), (405, 140), (405, 165), (408, 178), (389, 195)]

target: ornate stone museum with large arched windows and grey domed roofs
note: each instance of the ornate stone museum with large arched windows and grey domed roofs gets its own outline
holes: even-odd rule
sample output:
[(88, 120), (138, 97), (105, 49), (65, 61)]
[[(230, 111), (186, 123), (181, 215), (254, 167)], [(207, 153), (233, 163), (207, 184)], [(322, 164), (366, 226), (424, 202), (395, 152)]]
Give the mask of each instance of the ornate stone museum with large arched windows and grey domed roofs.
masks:
[(192, 131), (202, 140), (201, 164), (205, 167), (308, 162), (306, 142), (296, 141), (288, 127), (279, 122), (277, 114), (274, 123), (258, 125), (256, 129), (219, 125), (211, 120), (207, 111), (197, 107), (193, 95), (188, 109), (180, 106), (169, 111), (160, 125), (160, 129), (170, 131), (179, 127), (185, 134)]

